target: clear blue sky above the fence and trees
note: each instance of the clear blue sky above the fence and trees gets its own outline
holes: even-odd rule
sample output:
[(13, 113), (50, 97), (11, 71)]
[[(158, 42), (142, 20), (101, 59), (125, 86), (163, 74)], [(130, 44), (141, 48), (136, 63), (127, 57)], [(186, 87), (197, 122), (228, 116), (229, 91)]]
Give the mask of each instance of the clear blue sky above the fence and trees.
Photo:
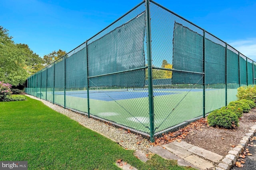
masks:
[[(0, 0), (0, 25), (16, 43), (43, 57), (66, 52), (122, 16), (140, 0)], [(256, 61), (255, 0), (156, 0)]]

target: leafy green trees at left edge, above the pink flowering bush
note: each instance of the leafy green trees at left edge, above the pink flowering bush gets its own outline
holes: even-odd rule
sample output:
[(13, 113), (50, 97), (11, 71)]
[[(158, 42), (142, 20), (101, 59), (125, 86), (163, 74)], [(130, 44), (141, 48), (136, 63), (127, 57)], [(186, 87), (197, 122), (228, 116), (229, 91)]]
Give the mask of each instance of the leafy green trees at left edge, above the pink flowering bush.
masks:
[(26, 44), (16, 44), (0, 26), (0, 81), (18, 86), (30, 74), (44, 67), (44, 61)]

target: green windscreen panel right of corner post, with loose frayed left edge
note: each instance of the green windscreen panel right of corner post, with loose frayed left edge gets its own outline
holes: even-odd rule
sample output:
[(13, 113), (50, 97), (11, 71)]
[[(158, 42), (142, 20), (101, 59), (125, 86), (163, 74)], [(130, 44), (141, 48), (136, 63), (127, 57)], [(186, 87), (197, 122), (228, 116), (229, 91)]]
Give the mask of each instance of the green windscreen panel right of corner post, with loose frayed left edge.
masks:
[[(174, 24), (173, 67), (176, 70), (203, 72), (203, 37), (184, 27)], [(173, 72), (173, 84), (202, 84), (202, 74)]]

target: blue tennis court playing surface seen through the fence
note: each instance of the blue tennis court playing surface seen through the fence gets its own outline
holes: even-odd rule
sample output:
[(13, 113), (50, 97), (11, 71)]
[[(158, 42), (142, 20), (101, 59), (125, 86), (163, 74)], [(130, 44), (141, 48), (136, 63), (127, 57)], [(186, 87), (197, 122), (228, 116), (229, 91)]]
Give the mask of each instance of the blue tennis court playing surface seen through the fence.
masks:
[[(117, 89), (122, 90), (122, 89)], [(217, 89), (206, 89), (208, 90), (217, 90)], [(103, 101), (113, 101), (113, 100), (126, 100), (126, 99), (135, 99), (135, 98), (146, 98), (148, 97), (148, 89), (137, 89), (137, 90), (126, 90), (126, 91), (115, 91), (110, 90), (89, 90), (89, 98), (94, 100), (103, 100)], [(179, 94), (183, 92), (202, 92), (202, 89), (154, 89), (154, 96), (164, 96)], [(52, 93), (52, 92), (50, 92)], [(64, 92), (55, 92), (55, 95), (63, 95)], [(78, 97), (78, 98), (87, 98), (87, 91), (66, 91), (66, 96)]]

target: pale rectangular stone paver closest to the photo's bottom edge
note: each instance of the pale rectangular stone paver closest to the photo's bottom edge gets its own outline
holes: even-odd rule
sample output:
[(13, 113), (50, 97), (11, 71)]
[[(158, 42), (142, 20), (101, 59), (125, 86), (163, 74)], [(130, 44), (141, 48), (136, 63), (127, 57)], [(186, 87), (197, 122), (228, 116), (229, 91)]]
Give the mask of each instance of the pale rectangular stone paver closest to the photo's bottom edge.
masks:
[(191, 164), (193, 164), (194, 166), (197, 166), (198, 168), (200, 168), (202, 170), (214, 167), (214, 165), (212, 163), (210, 163), (202, 158), (199, 158), (196, 155), (190, 155), (190, 156), (184, 158), (184, 160), (190, 162)]

